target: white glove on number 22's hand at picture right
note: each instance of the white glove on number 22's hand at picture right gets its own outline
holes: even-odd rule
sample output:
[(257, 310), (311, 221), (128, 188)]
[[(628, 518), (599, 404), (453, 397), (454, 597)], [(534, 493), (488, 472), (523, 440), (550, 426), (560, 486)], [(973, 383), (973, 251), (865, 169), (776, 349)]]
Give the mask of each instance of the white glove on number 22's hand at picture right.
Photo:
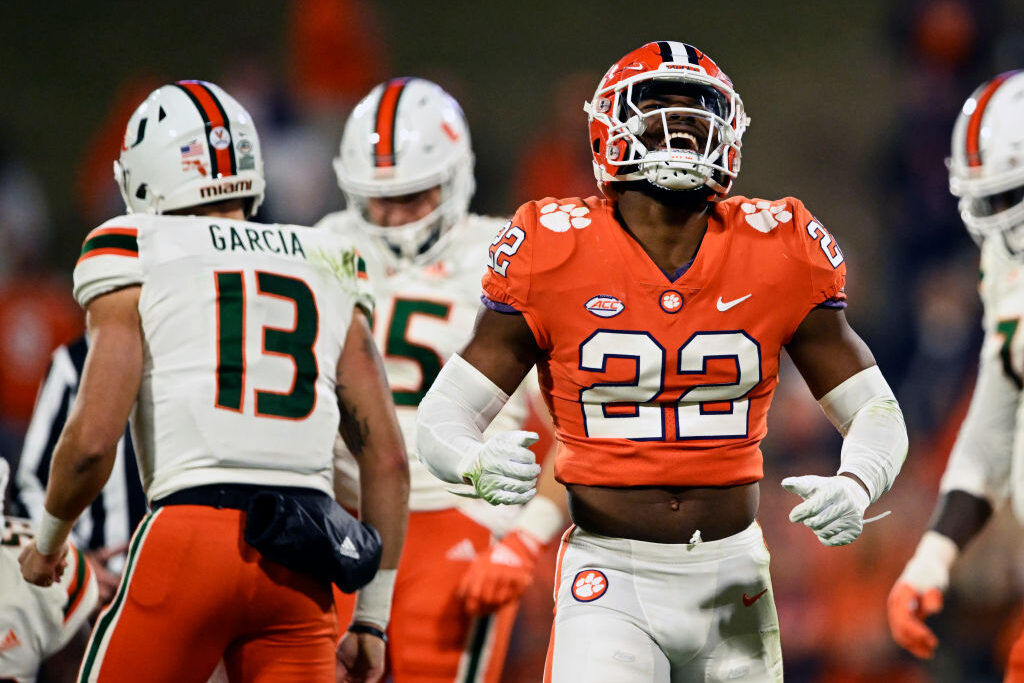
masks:
[(803, 522), (823, 545), (853, 543), (864, 528), (864, 510), (871, 501), (850, 477), (786, 477), (782, 487), (804, 499), (790, 512), (790, 521)]

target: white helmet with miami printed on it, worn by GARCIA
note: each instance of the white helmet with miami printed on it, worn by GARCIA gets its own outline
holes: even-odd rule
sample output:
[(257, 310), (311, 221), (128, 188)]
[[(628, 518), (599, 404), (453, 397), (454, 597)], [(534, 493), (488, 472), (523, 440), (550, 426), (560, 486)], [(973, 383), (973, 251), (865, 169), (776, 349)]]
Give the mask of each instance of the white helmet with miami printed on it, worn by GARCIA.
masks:
[(154, 90), (125, 129), (114, 179), (129, 213), (250, 199), (263, 202), (263, 157), (252, 117), (220, 87), (178, 81)]

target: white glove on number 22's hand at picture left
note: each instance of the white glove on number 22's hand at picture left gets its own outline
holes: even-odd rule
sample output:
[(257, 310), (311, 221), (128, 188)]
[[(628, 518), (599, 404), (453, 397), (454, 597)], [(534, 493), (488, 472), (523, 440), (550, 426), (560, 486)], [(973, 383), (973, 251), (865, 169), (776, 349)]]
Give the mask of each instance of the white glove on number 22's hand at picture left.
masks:
[(536, 432), (495, 434), (459, 463), (459, 473), (487, 503), (522, 505), (537, 495), (541, 466), (526, 447), (537, 439)]

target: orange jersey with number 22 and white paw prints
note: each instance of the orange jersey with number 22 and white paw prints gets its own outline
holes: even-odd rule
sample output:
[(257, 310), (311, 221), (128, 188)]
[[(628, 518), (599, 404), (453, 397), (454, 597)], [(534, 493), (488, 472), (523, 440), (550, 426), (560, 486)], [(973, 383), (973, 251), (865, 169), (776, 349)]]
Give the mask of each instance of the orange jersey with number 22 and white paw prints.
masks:
[(804, 316), (842, 307), (846, 266), (794, 198), (712, 205), (690, 266), (666, 275), (606, 200), (524, 204), (490, 246), (484, 303), (523, 314), (556, 477), (603, 486), (763, 476), (778, 361)]

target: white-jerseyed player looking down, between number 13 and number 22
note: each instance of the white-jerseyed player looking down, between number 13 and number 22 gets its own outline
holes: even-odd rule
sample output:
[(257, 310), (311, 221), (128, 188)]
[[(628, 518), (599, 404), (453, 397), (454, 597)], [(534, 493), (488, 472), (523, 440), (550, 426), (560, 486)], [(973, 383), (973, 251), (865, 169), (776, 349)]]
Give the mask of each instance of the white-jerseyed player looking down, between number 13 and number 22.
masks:
[[(391, 79), (358, 102), (335, 171), (347, 207), (317, 226), (352, 239), (367, 256), (377, 300), (374, 336), (411, 444), (420, 399), (472, 331), (481, 264), (505, 221), (468, 213), (469, 129), (458, 102), (424, 79)], [(530, 396), (517, 392), (497, 429), (522, 428)], [(354, 462), (338, 445), (335, 465), (345, 474), (336, 477), (338, 500), (355, 507), (358, 490), (348, 483)], [(410, 461), (390, 672), (395, 683), (497, 682), (518, 597), (543, 546), (566, 524), (564, 492), (552, 476), (552, 487), (524, 508), (494, 507), (454, 495), (413, 452)], [(339, 613), (344, 609), (342, 600)]]

